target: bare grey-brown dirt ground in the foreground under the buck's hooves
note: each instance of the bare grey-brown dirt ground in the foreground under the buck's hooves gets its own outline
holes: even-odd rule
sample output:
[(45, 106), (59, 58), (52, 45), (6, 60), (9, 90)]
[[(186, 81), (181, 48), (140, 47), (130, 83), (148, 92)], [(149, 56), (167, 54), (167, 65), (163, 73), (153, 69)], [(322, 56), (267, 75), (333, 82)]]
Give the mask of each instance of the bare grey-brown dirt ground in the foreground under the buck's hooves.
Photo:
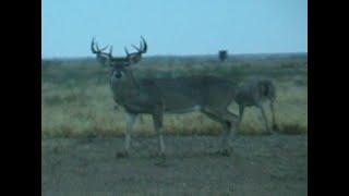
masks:
[(133, 137), (131, 156), (117, 158), (123, 138), (41, 140), (43, 195), (306, 195), (308, 136), (237, 136), (230, 157), (215, 155), (219, 136)]

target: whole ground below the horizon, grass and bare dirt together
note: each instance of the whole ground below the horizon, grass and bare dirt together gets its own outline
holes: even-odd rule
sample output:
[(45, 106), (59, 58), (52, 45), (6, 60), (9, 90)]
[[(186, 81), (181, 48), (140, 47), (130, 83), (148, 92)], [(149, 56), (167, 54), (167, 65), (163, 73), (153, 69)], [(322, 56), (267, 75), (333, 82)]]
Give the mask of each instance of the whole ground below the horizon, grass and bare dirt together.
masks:
[[(207, 74), (243, 82), (265, 76), (277, 86), (281, 134), (263, 135), (257, 110), (246, 109), (233, 152), (222, 157), (216, 155), (218, 123), (197, 112), (168, 114), (164, 161), (154, 156), (157, 137), (149, 115), (136, 121), (130, 157), (116, 156), (123, 149), (125, 114), (113, 108), (108, 68), (94, 59), (43, 60), (41, 194), (306, 195), (305, 64), (306, 54), (234, 56), (225, 63), (216, 57), (144, 58), (133, 68), (136, 77)], [(236, 103), (229, 110), (238, 114)]]

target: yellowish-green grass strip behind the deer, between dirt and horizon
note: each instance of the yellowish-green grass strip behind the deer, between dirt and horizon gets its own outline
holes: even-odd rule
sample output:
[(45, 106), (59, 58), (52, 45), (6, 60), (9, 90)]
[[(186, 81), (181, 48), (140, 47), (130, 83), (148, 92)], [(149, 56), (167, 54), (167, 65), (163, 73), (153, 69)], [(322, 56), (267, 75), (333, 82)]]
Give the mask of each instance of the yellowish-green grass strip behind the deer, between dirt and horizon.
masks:
[[(133, 66), (136, 77), (177, 77), (205, 74), (244, 81), (265, 76), (277, 86), (276, 120), (279, 132), (308, 132), (306, 54), (233, 56), (220, 63), (216, 57), (148, 57)], [(50, 137), (109, 137), (123, 134), (125, 115), (115, 110), (108, 68), (94, 59), (41, 61), (41, 133)], [(269, 112), (268, 106), (265, 109)], [(231, 103), (230, 111), (238, 114)], [(270, 113), (268, 113), (270, 120)], [(194, 122), (194, 123), (192, 123)], [(166, 134), (218, 134), (220, 125), (196, 112), (165, 117)], [(257, 110), (246, 109), (241, 134), (263, 134)], [(149, 115), (141, 115), (136, 135), (153, 135)]]

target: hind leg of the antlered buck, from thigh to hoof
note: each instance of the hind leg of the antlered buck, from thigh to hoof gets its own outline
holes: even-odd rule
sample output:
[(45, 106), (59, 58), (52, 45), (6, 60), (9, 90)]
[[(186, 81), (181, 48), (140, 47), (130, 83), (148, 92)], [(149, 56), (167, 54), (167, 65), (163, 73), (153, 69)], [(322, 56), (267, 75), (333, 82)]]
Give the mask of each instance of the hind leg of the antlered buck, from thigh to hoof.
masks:
[(222, 150), (221, 154), (224, 156), (229, 156), (232, 148), (230, 144), (230, 138), (234, 138), (236, 130), (239, 125), (239, 118), (238, 115), (229, 112), (228, 110), (209, 110), (205, 109), (203, 110), (203, 113), (205, 113), (210, 119), (220, 122), (224, 132), (221, 134), (222, 136)]

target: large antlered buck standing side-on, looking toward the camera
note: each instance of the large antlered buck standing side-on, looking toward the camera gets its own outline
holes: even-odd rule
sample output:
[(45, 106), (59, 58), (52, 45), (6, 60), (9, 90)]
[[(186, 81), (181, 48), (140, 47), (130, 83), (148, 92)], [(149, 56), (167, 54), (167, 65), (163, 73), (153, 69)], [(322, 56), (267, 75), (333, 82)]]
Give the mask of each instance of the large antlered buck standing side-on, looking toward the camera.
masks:
[(128, 113), (124, 151), (119, 156), (128, 156), (131, 143), (131, 130), (137, 114), (152, 114), (154, 128), (158, 136), (159, 152), (165, 155), (163, 139), (164, 113), (184, 113), (201, 111), (221, 123), (222, 149), (220, 152), (228, 156), (231, 151), (229, 139), (233, 136), (239, 118), (228, 111), (228, 106), (234, 97), (236, 83), (215, 76), (186, 76), (177, 78), (136, 78), (129, 68), (142, 59), (147, 50), (147, 44), (142, 37), (140, 47), (133, 46), (137, 51), (125, 57), (112, 57), (95, 48), (92, 40), (92, 52), (98, 61), (107, 62), (111, 68), (110, 87), (113, 100), (122, 106)]

